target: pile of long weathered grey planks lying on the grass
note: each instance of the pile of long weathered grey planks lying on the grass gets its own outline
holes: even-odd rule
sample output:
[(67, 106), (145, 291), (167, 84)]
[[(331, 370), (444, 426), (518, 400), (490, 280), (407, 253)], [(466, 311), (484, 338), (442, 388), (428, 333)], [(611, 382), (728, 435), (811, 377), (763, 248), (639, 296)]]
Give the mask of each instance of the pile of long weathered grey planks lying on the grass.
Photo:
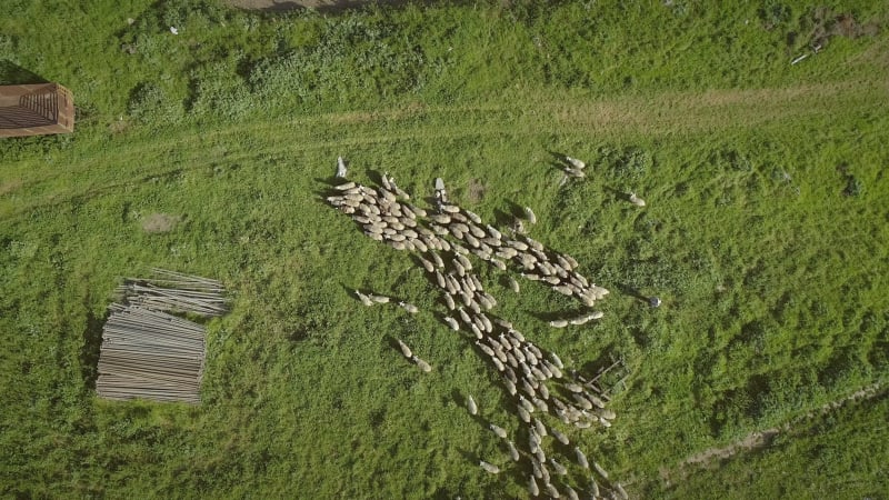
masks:
[(200, 403), (204, 327), (170, 312), (216, 317), (226, 312), (214, 280), (153, 269), (154, 278), (128, 278), (121, 303), (110, 306), (102, 330), (101, 398)]

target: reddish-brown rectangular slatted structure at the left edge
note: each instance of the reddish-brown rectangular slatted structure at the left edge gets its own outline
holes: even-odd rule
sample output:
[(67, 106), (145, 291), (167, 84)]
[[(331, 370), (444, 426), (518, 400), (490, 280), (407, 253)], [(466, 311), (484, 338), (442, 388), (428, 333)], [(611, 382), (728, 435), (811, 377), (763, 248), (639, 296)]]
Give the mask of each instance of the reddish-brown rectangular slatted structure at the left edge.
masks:
[(0, 86), (0, 138), (74, 131), (74, 100), (58, 83)]

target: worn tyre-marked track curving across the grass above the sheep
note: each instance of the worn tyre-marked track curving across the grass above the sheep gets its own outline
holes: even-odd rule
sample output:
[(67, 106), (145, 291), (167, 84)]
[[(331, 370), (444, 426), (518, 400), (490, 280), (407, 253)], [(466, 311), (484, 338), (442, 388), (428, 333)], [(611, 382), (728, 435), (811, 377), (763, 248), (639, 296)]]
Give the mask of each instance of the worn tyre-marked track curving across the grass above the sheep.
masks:
[[(877, 96), (875, 96), (877, 94)], [(875, 98), (882, 98), (875, 101)], [(54, 168), (47, 174), (33, 163), (23, 162), (19, 170), (31, 172), (0, 184), (0, 220), (11, 220), (29, 210), (59, 204), (66, 200), (100, 193), (116, 186), (131, 183), (131, 179), (149, 180), (171, 171), (151, 168), (166, 161), (179, 164), (181, 171), (193, 171), (218, 161), (237, 161), (287, 151), (342, 149), (364, 144), (399, 141), (441, 141), (478, 137), (510, 136), (536, 137), (541, 133), (590, 133), (599, 138), (626, 133), (672, 136), (678, 133), (715, 132), (730, 128), (761, 126), (765, 122), (800, 119), (827, 112), (825, 102), (835, 107), (870, 109), (873, 102), (889, 101), (885, 83), (848, 81), (821, 86), (797, 86), (782, 89), (713, 90), (703, 93), (665, 92), (655, 97), (629, 97), (612, 100), (588, 100), (572, 97), (531, 101), (525, 106), (480, 104), (456, 107), (426, 107), (409, 104), (402, 109), (384, 111), (348, 111), (317, 117), (300, 117), (288, 122), (253, 121), (211, 130), (192, 129), (184, 137), (152, 141), (151, 132), (137, 138), (137, 147), (121, 143), (111, 153), (102, 154), (101, 162), (121, 164), (114, 174), (130, 182), (106, 182), (93, 186), (91, 170), (94, 158), (80, 158), (62, 170)], [(653, 99), (653, 102), (652, 102)], [(515, 101), (512, 101), (515, 102)], [(460, 120), (455, 120), (459, 117)], [(466, 126), (465, 122), (473, 123)], [(416, 123), (420, 121), (421, 123)], [(343, 126), (348, 127), (343, 129)], [(394, 133), (379, 133), (379, 129), (401, 129)], [(186, 129), (187, 130), (187, 129)], [(309, 131), (309, 133), (307, 133)], [(328, 137), (348, 136), (331, 140)], [(269, 142), (270, 140), (270, 142)], [(263, 142), (266, 141), (266, 142)], [(93, 144), (91, 144), (93, 146)], [(98, 146), (98, 144), (96, 144)], [(228, 147), (247, 150), (246, 154), (231, 154)], [(220, 152), (220, 149), (222, 150)], [(209, 151), (208, 151), (209, 150)], [(182, 154), (191, 153), (191, 156)], [(74, 151), (73, 154), (81, 154)], [(140, 161), (128, 162), (139, 158)], [(146, 169), (142, 160), (148, 159)], [(64, 162), (62, 159), (53, 163)], [(187, 164), (186, 164), (187, 163)], [(164, 166), (166, 167), (166, 166)], [(36, 189), (64, 177), (67, 189), (51, 194), (44, 202), (21, 204), (10, 194), (23, 189)], [(80, 182), (89, 188), (77, 189)]]

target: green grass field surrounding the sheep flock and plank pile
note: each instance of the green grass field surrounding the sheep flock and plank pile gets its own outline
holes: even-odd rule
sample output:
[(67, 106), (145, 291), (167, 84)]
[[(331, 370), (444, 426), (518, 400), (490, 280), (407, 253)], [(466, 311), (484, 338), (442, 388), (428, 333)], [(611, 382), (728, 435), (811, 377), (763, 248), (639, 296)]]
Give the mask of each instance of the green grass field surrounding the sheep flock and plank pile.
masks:
[[(0, 494), (526, 498), (463, 408), (519, 428), (492, 368), (408, 254), (323, 203), (343, 156), (414, 198), (442, 177), (499, 226), (532, 207), (530, 234), (611, 290), (602, 320), (556, 330), (569, 300), (480, 271), (567, 366), (625, 361), (615, 426), (571, 438), (632, 498), (887, 498), (887, 27), (870, 1), (7, 0), (0, 83), (62, 83), (78, 123), (0, 140)], [(555, 154), (587, 178), (560, 186)], [(106, 308), (152, 266), (231, 290), (199, 407), (94, 396)]]

